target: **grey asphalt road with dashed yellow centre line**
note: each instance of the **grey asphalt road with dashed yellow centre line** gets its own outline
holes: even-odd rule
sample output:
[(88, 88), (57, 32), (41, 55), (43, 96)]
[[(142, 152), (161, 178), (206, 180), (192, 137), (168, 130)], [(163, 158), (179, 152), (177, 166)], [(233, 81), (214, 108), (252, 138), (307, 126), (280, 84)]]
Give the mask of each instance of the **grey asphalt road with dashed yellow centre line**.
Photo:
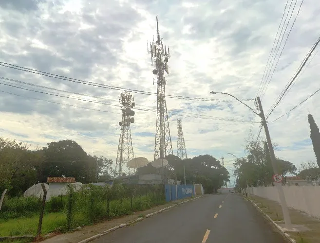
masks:
[(94, 243), (285, 243), (238, 194), (203, 198), (120, 228)]

